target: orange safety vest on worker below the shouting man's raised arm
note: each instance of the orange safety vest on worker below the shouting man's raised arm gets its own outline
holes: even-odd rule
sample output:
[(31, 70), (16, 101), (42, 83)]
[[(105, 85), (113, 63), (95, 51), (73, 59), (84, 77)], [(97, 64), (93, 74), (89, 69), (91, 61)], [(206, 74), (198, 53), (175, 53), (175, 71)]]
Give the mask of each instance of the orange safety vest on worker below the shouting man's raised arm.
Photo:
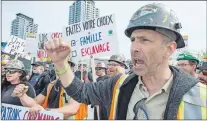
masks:
[[(53, 81), (51, 83), (49, 83), (48, 87), (47, 87), (47, 95), (45, 97), (44, 103), (42, 104), (43, 108), (47, 108), (48, 107), (48, 98), (51, 92), (51, 89), (53, 88), (54, 84), (56, 83), (56, 81)], [(59, 98), (59, 108), (63, 107), (65, 105), (65, 98), (63, 96), (63, 94), (65, 93), (65, 90), (63, 87), (61, 87), (61, 92), (60, 92), (60, 98)], [(67, 93), (66, 93), (67, 95)], [(66, 96), (66, 98), (70, 98), (69, 96)], [(70, 119), (72, 118), (73, 120), (83, 120), (86, 119), (88, 116), (88, 106), (86, 104), (80, 104), (80, 108), (78, 109), (78, 112), (74, 115), (69, 117)]]

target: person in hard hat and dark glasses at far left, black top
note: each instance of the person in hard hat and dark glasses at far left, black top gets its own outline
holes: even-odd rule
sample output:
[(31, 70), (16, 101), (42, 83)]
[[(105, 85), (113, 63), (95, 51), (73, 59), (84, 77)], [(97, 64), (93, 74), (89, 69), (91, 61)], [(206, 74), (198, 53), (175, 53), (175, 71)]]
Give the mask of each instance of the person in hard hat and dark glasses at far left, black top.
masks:
[[(34, 98), (35, 91), (32, 85), (26, 80), (24, 65), (19, 60), (11, 60), (5, 66), (6, 79), (1, 85), (1, 103), (22, 106), (18, 97), (12, 95), (13, 90), (18, 84), (25, 84), (27, 95)], [(21, 97), (23, 95), (19, 95)]]

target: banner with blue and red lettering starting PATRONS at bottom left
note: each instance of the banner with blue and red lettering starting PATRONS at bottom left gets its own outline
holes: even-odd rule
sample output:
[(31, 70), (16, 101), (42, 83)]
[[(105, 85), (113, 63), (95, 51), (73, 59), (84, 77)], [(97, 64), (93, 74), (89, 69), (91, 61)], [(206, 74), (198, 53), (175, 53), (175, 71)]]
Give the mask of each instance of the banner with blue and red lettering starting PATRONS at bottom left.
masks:
[(1, 120), (63, 120), (63, 114), (51, 111), (40, 111), (33, 117), (27, 107), (2, 103)]

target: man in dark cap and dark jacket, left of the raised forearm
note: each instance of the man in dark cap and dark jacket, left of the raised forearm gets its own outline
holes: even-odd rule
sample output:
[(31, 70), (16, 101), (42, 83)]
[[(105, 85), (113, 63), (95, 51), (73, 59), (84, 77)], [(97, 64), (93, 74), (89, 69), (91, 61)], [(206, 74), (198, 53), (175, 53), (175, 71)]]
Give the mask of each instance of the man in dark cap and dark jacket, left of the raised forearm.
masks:
[(44, 72), (44, 68), (41, 62), (32, 64), (32, 75), (29, 79), (29, 83), (34, 87), (36, 95), (39, 95), (46, 85), (50, 83), (50, 75)]

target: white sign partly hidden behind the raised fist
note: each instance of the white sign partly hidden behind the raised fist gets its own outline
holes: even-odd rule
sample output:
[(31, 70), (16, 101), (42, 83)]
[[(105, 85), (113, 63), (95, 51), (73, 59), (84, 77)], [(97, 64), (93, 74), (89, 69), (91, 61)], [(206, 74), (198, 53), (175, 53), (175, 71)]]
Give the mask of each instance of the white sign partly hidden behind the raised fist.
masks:
[(38, 36), (36, 36), (36, 40), (38, 42), (38, 48), (36, 51), (37, 52), (37, 59), (39, 59), (39, 61), (44, 61), (44, 59), (50, 60), (47, 57), (47, 53), (44, 50), (44, 44), (48, 40), (53, 40), (55, 38), (61, 38), (61, 37), (62, 37), (62, 33), (60, 33), (60, 32), (39, 33)]

